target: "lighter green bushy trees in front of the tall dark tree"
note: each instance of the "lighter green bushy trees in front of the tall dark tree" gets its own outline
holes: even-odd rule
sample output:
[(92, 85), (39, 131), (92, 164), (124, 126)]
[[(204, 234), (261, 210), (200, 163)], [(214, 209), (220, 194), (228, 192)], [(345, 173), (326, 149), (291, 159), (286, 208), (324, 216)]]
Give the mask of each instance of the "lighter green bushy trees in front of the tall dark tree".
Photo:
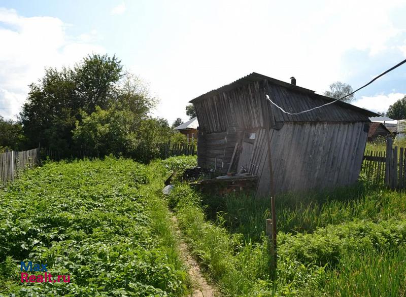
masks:
[[(159, 158), (158, 145), (174, 134), (166, 120), (147, 117), (138, 121), (138, 116), (128, 109), (103, 110), (96, 106), (95, 112), (82, 112), (81, 116), (82, 121), (76, 121), (73, 139), (81, 150), (93, 156), (113, 154), (148, 163)], [(133, 129), (134, 121), (137, 129)]]

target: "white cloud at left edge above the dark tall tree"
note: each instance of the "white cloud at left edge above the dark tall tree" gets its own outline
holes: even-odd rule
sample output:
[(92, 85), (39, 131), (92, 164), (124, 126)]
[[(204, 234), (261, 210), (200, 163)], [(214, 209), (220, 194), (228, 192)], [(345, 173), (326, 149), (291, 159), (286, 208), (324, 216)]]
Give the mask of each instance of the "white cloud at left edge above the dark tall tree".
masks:
[(105, 52), (91, 39), (67, 35), (66, 26), (58, 18), (22, 17), (0, 8), (0, 115), (15, 118), (28, 85), (43, 76), (44, 67), (71, 65), (91, 52)]

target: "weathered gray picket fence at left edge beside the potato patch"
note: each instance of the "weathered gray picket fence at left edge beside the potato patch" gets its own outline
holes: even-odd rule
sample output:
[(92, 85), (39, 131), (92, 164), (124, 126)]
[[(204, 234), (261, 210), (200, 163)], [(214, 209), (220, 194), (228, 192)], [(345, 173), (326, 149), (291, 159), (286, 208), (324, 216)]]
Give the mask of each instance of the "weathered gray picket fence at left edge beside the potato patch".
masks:
[(40, 164), (40, 148), (22, 152), (6, 152), (0, 154), (0, 179), (7, 185), (19, 177), (21, 172)]

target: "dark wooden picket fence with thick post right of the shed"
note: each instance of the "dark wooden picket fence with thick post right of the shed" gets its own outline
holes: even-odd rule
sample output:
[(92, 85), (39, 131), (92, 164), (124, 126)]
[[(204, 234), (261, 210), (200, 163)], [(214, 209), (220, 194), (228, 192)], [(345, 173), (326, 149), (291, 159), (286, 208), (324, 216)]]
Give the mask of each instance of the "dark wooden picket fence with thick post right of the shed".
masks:
[(370, 181), (390, 189), (406, 188), (406, 149), (386, 139), (386, 152), (366, 151), (361, 172)]

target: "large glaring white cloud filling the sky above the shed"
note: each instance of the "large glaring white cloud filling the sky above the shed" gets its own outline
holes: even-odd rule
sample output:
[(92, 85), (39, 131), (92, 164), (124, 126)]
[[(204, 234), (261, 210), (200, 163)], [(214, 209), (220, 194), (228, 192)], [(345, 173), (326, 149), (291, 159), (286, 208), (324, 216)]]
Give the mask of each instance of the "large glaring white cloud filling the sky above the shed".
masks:
[(170, 122), (185, 115), (189, 100), (252, 71), (287, 82), (295, 76), (299, 86), (322, 93), (334, 81), (366, 81), (376, 66), (344, 64), (347, 53), (388, 65), (386, 53), (405, 28), (391, 13), (402, 6), (366, 0), (164, 3), (164, 25), (151, 30), (146, 43), (154, 59), (146, 55), (147, 64), (138, 57), (137, 73), (162, 99), (156, 115)]

